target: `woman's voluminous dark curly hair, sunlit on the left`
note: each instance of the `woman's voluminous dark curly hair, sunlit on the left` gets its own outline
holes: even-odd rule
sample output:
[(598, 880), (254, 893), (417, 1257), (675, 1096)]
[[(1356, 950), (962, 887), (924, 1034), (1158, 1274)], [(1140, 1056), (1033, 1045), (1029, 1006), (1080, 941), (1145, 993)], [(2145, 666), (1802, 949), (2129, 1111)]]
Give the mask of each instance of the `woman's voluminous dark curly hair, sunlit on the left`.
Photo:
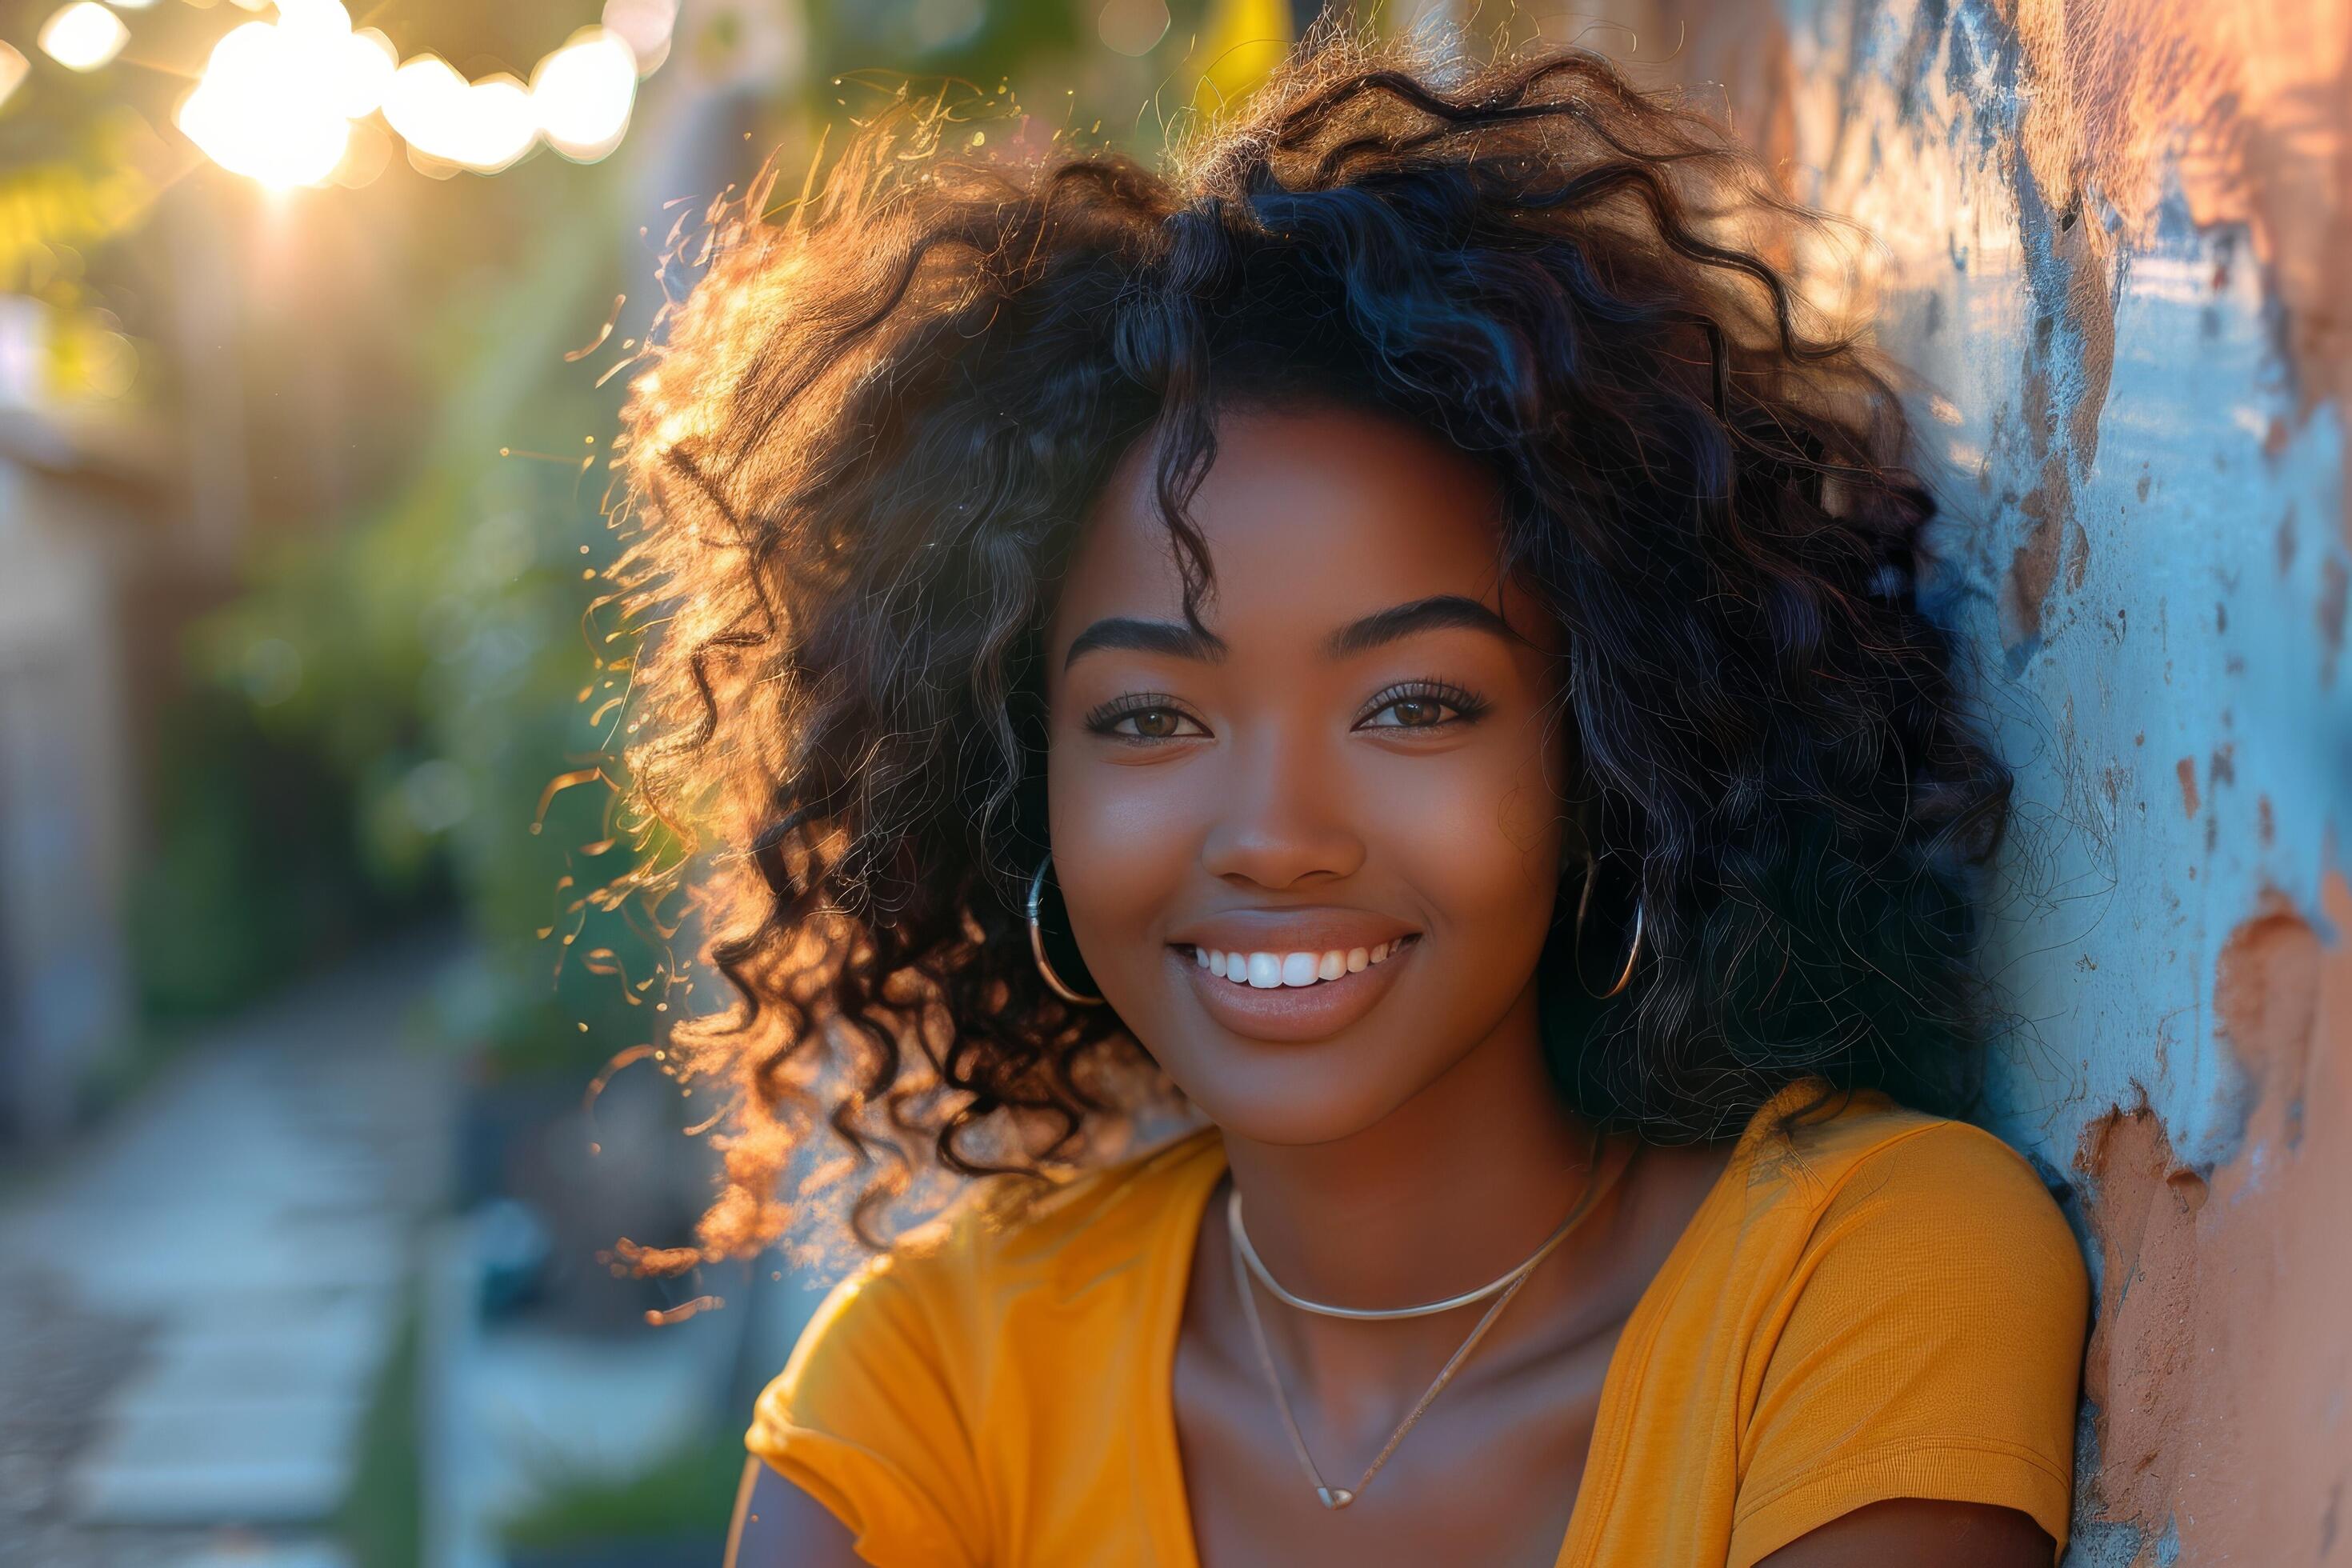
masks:
[(1040, 632), (1145, 430), (1195, 614), (1237, 402), (1402, 416), (1498, 480), (1642, 867), (1635, 983), (1548, 1009), (1581, 1112), (1689, 1140), (1806, 1074), (1969, 1093), (2009, 773), (1919, 607), (1893, 371), (1792, 282), (1820, 214), (1581, 49), (1310, 40), (1167, 172), (941, 141), (901, 106), (783, 219), (767, 179), (717, 209), (626, 409), (628, 799), (673, 846), (633, 879), (701, 893), (734, 997), (673, 1039), (731, 1095), (706, 1258), (786, 1232), (788, 1171), (863, 1178), (875, 1246), (910, 1180), (1096, 1157), (1167, 1093), (1030, 964)]

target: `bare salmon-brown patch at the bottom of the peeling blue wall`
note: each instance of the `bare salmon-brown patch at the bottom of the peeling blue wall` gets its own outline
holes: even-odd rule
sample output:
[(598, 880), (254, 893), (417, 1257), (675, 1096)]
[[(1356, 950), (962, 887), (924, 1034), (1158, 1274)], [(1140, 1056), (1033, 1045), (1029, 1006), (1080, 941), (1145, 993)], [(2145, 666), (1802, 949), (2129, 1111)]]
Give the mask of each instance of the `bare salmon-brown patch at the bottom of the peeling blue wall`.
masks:
[[(2223, 947), (2216, 1023), (2256, 1091), (2237, 1157), (2209, 1180), (2145, 1098), (2091, 1121), (2074, 1157), (2100, 1260), (2084, 1505), (2126, 1526), (2100, 1540), (2152, 1535), (2152, 1561), (2319, 1563), (2338, 1535), (2352, 1476), (2340, 1331), (2352, 884), (2340, 872), (2326, 900), (2333, 952), (2279, 893)], [(2307, 1135), (2314, 1117), (2324, 1140)]]

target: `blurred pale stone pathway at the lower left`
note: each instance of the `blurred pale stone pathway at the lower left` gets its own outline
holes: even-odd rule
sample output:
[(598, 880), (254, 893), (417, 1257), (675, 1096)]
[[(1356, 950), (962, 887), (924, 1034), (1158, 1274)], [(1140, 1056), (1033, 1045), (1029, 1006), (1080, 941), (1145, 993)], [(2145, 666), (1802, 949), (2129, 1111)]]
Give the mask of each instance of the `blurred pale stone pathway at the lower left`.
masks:
[(0, 1561), (339, 1568), (325, 1523), (442, 1199), (407, 943), (214, 1030), (0, 1208)]

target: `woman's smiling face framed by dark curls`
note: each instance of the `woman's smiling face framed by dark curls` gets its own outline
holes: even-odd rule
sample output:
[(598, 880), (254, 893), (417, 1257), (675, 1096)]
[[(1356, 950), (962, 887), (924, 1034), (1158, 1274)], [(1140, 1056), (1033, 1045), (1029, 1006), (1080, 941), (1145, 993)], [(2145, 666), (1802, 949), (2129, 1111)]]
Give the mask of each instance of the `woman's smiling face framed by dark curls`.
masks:
[(1230, 1133), (1345, 1138), (1536, 1037), (1569, 743), (1496, 505), (1409, 425), (1242, 411), (1192, 501), (1211, 642), (1148, 442), (1080, 541), (1047, 632), (1054, 875), (1103, 994)]

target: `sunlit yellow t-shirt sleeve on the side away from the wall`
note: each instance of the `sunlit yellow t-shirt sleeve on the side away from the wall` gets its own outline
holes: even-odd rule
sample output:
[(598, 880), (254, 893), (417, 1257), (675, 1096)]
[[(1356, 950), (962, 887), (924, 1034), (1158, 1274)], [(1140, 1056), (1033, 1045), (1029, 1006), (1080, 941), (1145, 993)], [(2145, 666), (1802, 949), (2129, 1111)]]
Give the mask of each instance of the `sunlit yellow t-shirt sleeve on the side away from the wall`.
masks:
[(743, 1446), (823, 1502), (877, 1568), (978, 1566), (981, 1488), (922, 1291), (877, 1258), (826, 1295)]

